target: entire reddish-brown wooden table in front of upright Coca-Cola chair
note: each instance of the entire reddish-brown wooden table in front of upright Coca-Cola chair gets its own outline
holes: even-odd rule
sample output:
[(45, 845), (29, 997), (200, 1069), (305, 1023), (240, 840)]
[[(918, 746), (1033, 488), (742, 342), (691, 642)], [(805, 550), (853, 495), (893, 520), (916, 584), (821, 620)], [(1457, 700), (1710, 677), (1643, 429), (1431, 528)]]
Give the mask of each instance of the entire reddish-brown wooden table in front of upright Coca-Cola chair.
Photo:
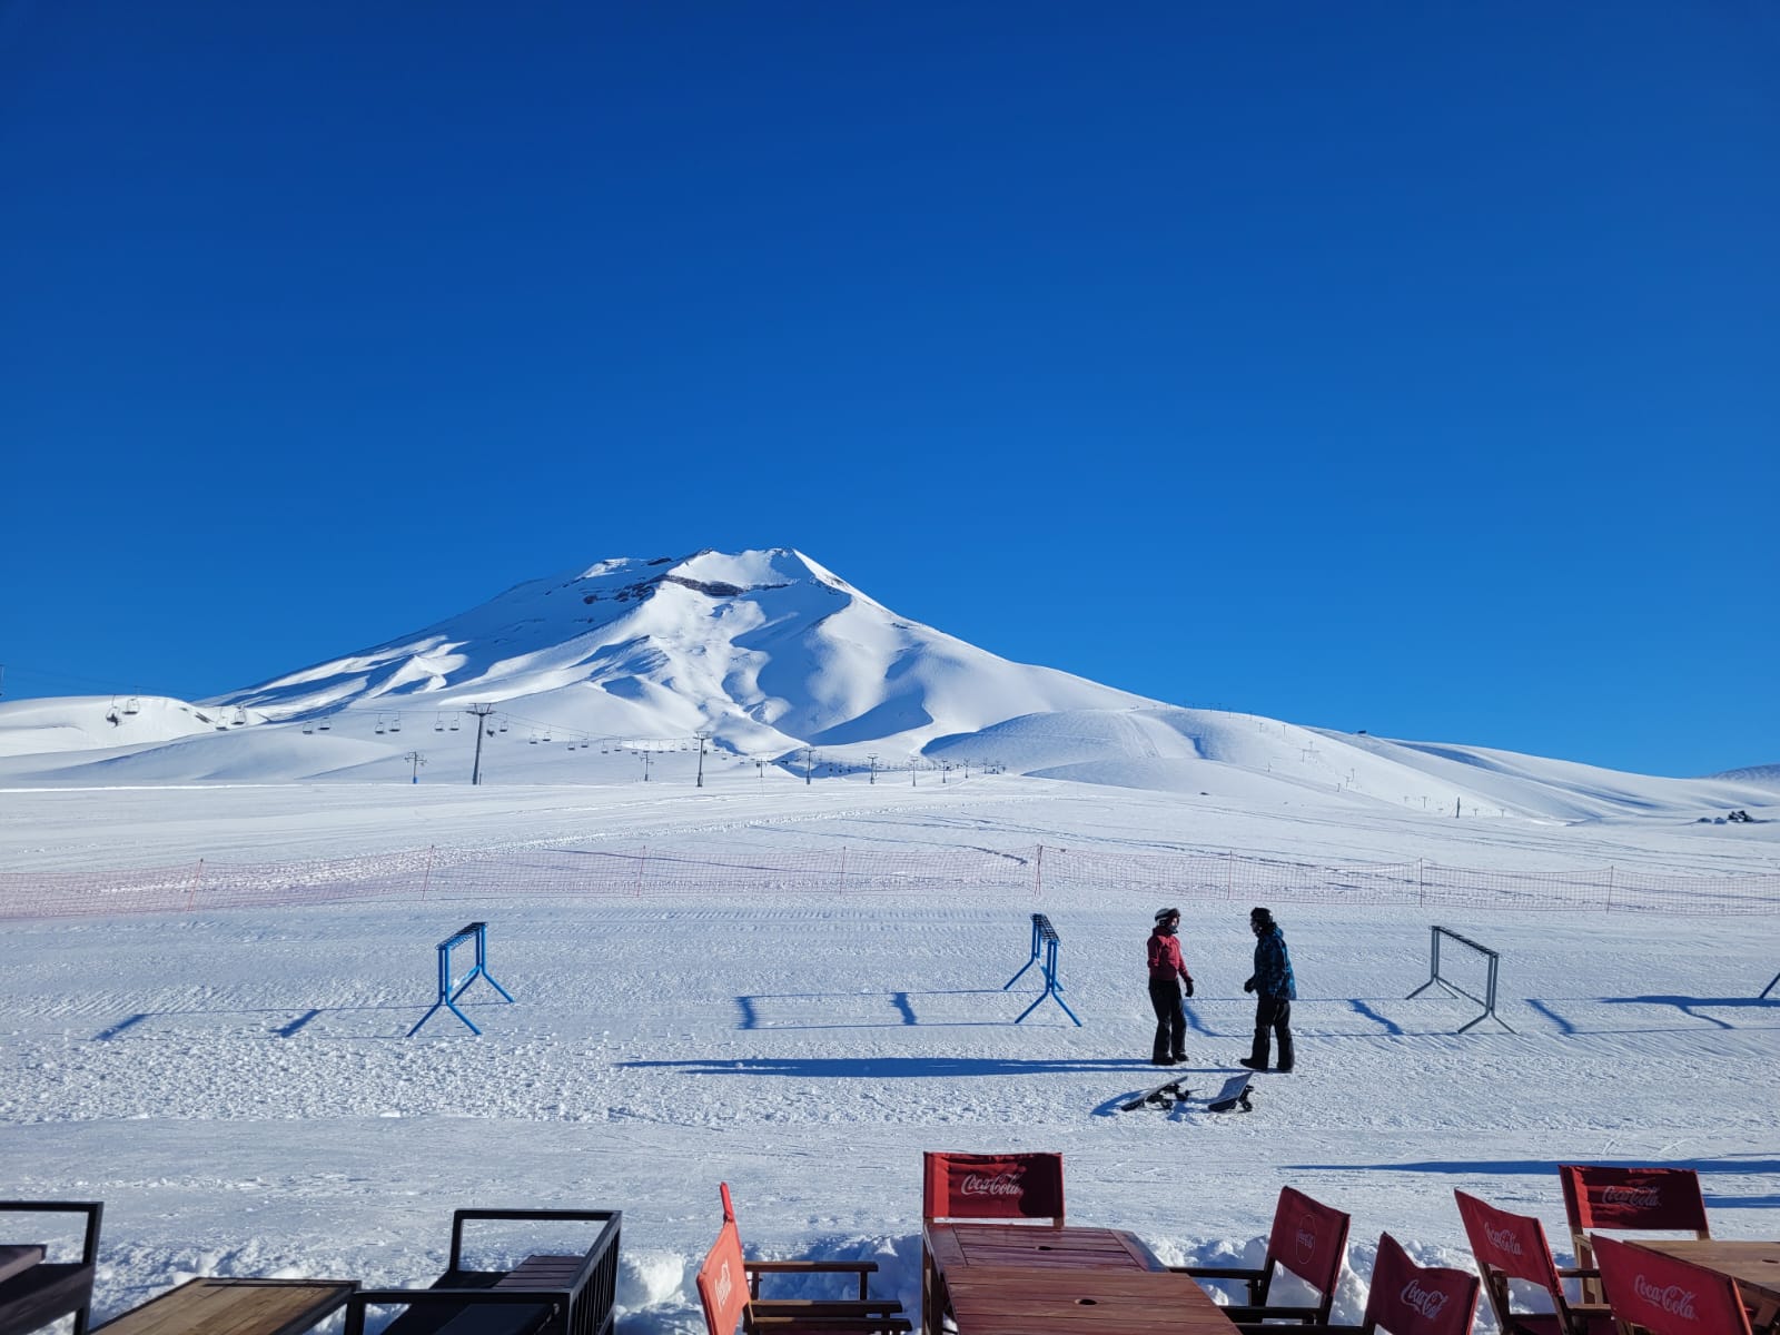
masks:
[(1187, 1274), (1118, 1228), (929, 1225), (922, 1328), (951, 1308), (958, 1335), (1230, 1335)]

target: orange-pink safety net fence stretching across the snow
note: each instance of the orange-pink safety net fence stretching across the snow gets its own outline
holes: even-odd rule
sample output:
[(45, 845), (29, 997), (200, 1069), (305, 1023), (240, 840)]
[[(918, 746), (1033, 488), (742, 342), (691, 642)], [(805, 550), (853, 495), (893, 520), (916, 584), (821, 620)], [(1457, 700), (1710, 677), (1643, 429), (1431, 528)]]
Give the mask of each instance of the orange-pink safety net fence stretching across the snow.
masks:
[(1465, 910), (1753, 915), (1780, 911), (1780, 874), (1680, 876), (1598, 867), (1499, 870), (1435, 862), (1317, 865), (1235, 853), (1020, 849), (422, 847), (283, 863), (0, 872), (0, 918), (217, 911), (447, 899), (899, 895), (959, 902), (1226, 901)]

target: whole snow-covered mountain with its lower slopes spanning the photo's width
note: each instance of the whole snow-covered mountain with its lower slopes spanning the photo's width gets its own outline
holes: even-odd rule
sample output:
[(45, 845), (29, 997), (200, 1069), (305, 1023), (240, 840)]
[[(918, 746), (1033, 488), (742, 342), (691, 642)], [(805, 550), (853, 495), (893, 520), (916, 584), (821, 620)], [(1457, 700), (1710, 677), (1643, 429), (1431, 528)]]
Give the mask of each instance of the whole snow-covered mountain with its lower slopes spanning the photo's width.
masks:
[(988, 765), (1260, 806), (1315, 796), (1558, 822), (1775, 806), (1775, 767), (1652, 778), (1175, 708), (910, 621), (789, 548), (602, 561), (199, 705), (0, 703), (0, 781), (386, 781), (422, 765), (463, 781), (477, 764), (498, 783)]

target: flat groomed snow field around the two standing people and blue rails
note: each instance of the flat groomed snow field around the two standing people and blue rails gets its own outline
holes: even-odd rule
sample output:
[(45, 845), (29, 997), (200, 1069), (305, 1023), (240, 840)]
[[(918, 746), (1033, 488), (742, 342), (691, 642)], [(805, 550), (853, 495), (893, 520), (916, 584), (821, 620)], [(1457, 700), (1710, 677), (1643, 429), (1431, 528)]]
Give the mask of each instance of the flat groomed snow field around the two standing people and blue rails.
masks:
[[(1168, 719), (1137, 728), (1180, 735)], [(1109, 764), (1072, 758), (1056, 732), (1027, 742), (1059, 765)], [(1093, 785), (805, 785), (748, 765), (705, 789), (14, 789), (0, 869), (541, 842), (760, 856), (1050, 844), (1314, 865), (1618, 862), (1679, 878), (1771, 876), (1780, 862), (1771, 801), (1750, 805), (1748, 826), (1700, 826), (1691, 792), (1643, 821), (1565, 826), (1392, 810), (1185, 753), (1153, 764), (1200, 767), (1191, 781), (1145, 787), (1148, 764)], [(1212, 774), (1239, 781), (1200, 796)], [(424, 1283), (459, 1205), (623, 1209), (627, 1333), (701, 1330), (692, 1271), (719, 1180), (753, 1251), (872, 1257), (876, 1289), (913, 1308), (922, 1150), (1061, 1150), (1072, 1221), (1132, 1228), (1168, 1260), (1258, 1260), (1292, 1184), (1353, 1214), (1342, 1321), (1360, 1315), (1381, 1230), (1422, 1260), (1468, 1264), (1454, 1187), (1538, 1214), (1566, 1251), (1568, 1161), (1695, 1166), (1714, 1234), (1780, 1237), (1780, 1004), (1757, 1000), (1780, 968), (1773, 913), (1274, 902), (1299, 977), (1298, 1073), (1258, 1077), (1250, 1114), (1121, 1114), (1157, 1080), (1141, 949), (1159, 906), (1120, 885), (447, 902), (417, 886), (361, 904), (11, 922), (5, 1194), (105, 1202), (100, 1319), (196, 1273)], [(1182, 908), (1200, 981), (1184, 1073), (1209, 1088), (1248, 1038), (1248, 904)], [(1050, 1002), (1013, 1024), (1038, 991), (1034, 972), (1002, 990), (1032, 911), (1063, 938), (1082, 1027)], [(516, 1004), (475, 984), (481, 1038), (440, 1015), (404, 1040), (433, 1000), (436, 942), (475, 918)], [(1515, 1032), (1454, 1034), (1474, 1006), (1404, 1000), (1428, 977), (1435, 920), (1501, 951)]]

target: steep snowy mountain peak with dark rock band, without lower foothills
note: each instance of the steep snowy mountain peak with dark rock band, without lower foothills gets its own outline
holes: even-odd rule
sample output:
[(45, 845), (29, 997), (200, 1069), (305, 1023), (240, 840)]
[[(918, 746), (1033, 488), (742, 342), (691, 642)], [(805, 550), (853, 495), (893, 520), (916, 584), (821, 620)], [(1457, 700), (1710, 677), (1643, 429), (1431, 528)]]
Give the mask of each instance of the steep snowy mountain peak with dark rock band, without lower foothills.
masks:
[(618, 559), (214, 701), (274, 719), (495, 703), (582, 735), (926, 742), (1018, 714), (1152, 703), (897, 616), (801, 552)]

